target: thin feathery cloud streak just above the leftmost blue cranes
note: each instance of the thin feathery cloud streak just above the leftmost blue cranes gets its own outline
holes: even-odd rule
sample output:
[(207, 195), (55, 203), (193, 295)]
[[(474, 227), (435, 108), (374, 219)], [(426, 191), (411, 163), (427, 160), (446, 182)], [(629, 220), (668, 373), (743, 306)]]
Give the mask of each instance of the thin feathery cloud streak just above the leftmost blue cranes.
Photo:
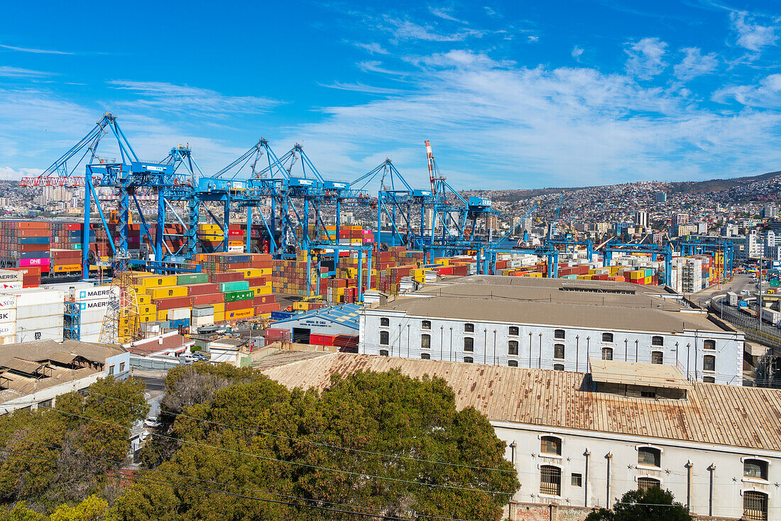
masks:
[(140, 98), (122, 105), (144, 106), (163, 112), (195, 112), (217, 117), (235, 113), (266, 112), (280, 102), (258, 96), (228, 96), (199, 87), (155, 81), (110, 80), (115, 89), (130, 91)]

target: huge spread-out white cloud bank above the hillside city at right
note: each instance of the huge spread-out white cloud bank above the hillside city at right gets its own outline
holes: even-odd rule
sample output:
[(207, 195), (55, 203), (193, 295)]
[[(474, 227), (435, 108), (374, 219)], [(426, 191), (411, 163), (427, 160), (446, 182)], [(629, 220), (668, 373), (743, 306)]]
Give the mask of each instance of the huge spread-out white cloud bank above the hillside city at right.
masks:
[(424, 139), (457, 187), (709, 178), (781, 162), (777, 112), (711, 111), (634, 75), (508, 66), (461, 50), (416, 64), (410, 91), (327, 107), (287, 139), (313, 149), (321, 172), (358, 177), (393, 155), (413, 185), (427, 180)]

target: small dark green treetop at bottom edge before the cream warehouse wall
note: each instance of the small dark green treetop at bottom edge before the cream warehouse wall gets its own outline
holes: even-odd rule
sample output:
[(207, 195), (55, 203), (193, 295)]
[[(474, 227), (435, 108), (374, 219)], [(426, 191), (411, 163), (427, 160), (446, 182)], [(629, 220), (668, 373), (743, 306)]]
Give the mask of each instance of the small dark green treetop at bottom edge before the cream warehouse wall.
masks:
[(690, 521), (686, 507), (675, 501), (672, 492), (659, 487), (629, 491), (612, 510), (591, 512), (586, 521)]

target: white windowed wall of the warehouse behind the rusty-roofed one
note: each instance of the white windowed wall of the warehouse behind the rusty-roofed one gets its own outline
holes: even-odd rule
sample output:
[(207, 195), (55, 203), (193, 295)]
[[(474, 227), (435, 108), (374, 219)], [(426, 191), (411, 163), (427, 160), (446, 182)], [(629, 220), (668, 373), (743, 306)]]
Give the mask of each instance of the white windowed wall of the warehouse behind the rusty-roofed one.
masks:
[[(473, 305), (480, 305), (473, 302)], [(389, 325), (380, 326), (387, 318)], [(522, 317), (519, 317), (522, 319)], [(423, 320), (430, 320), (431, 329), (423, 330)], [(588, 372), (588, 359), (601, 358), (603, 348), (612, 348), (614, 360), (651, 362), (652, 351), (662, 351), (665, 364), (678, 366), (690, 380), (715, 378), (719, 384), (742, 384), (744, 337), (727, 331), (685, 331), (670, 334), (653, 331), (600, 330), (585, 327), (555, 325), (495, 323), (475, 321), (474, 333), (465, 332), (465, 320), (438, 317), (407, 316), (404, 312), (382, 309), (364, 309), (360, 322), (358, 352), (379, 355), (387, 350), (391, 356), (419, 359), (423, 352), (433, 360), (463, 362), (471, 357), (474, 363), (508, 366), (512, 361), (519, 367), (555, 369), (557, 364), (566, 371)], [(517, 336), (509, 335), (509, 327), (519, 328)], [(555, 330), (564, 330), (565, 338), (555, 338)], [(380, 332), (388, 332), (388, 345), (380, 345)], [(602, 334), (612, 333), (613, 342), (603, 342)], [(429, 349), (421, 348), (421, 334), (430, 334)], [(651, 337), (662, 336), (662, 347), (652, 346)], [(471, 337), (474, 351), (464, 349), (464, 338)], [(715, 351), (704, 351), (703, 341), (715, 341)], [(517, 341), (519, 354), (508, 354), (508, 342)], [(554, 359), (555, 344), (563, 344), (564, 359)], [(704, 355), (715, 355), (715, 372), (703, 371)]]

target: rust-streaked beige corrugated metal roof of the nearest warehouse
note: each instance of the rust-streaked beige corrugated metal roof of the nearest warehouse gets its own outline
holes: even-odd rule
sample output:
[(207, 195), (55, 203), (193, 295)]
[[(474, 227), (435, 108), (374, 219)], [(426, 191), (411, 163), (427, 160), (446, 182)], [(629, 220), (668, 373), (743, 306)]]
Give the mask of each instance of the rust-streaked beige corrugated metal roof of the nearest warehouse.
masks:
[(492, 421), (781, 451), (781, 391), (692, 384), (686, 399), (629, 398), (587, 390), (587, 375), (546, 369), (334, 353), (267, 369), (287, 387), (324, 389), (333, 374), (387, 371), (444, 378), (456, 407)]

